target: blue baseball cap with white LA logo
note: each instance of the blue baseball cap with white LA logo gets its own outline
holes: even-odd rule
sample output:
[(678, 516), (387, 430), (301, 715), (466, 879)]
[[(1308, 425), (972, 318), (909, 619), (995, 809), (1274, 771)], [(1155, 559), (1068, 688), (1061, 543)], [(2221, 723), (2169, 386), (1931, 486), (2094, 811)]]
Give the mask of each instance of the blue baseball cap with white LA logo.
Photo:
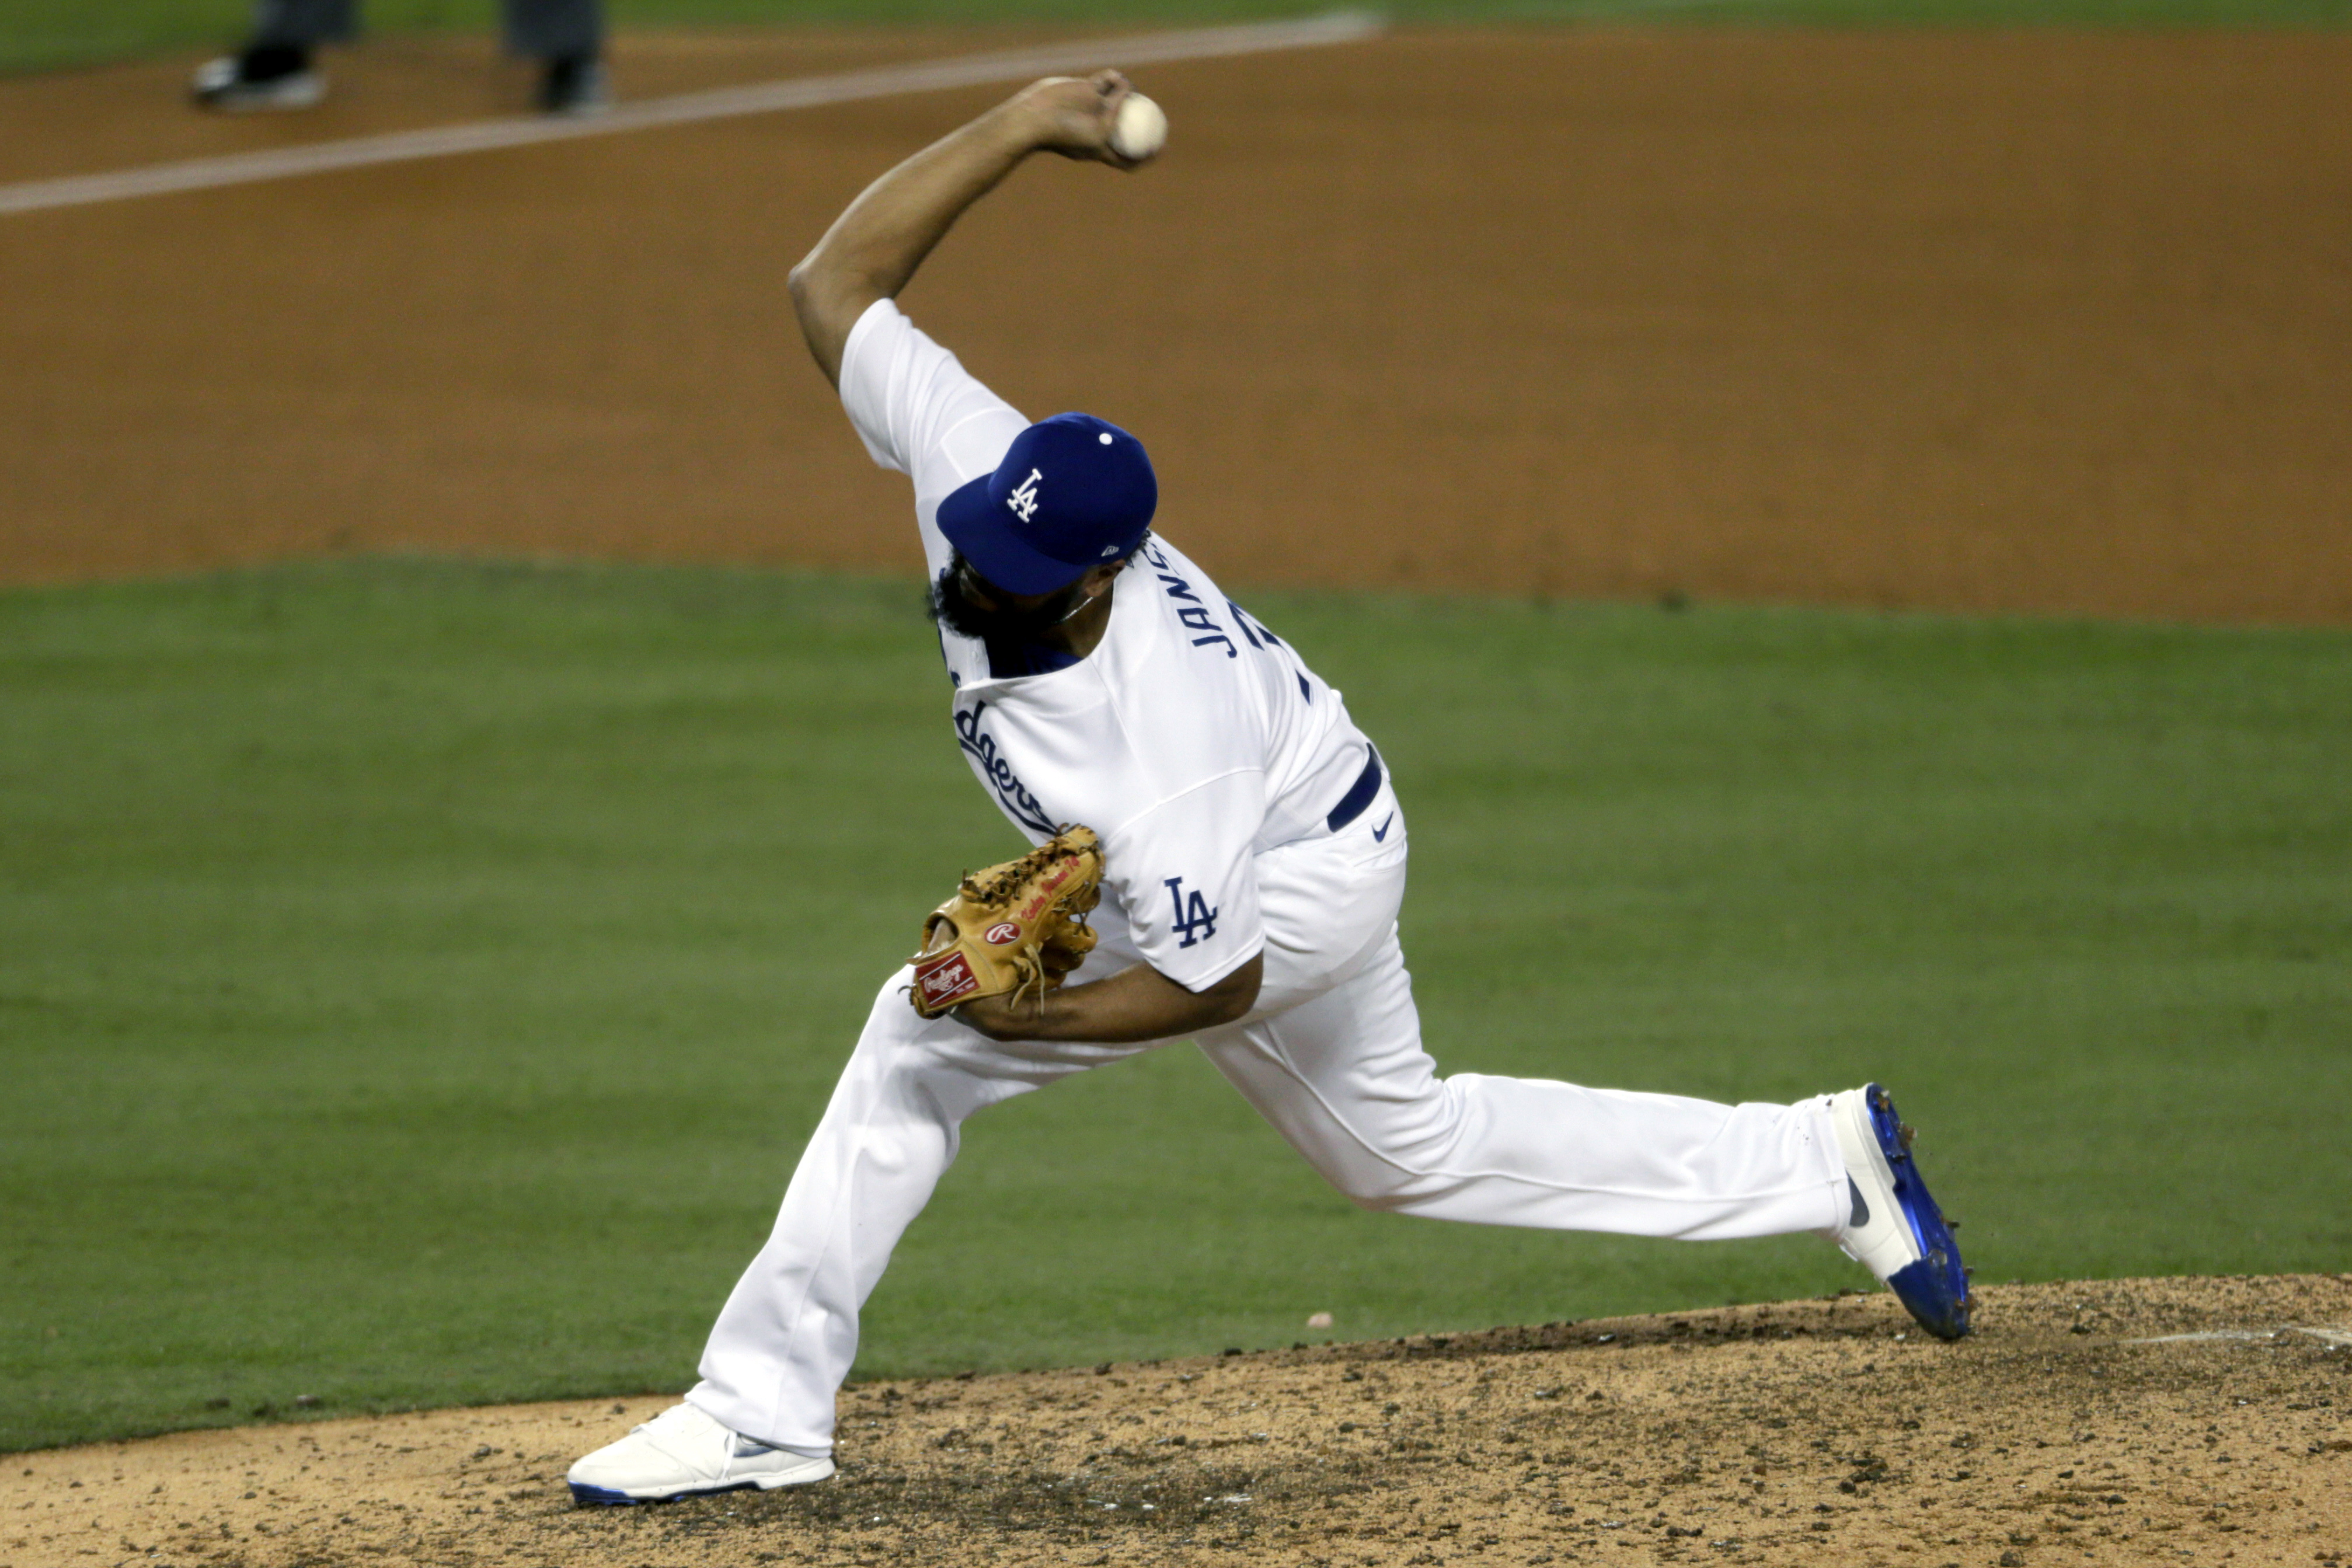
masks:
[(1143, 543), (1160, 480), (1143, 442), (1094, 414), (1056, 414), (1014, 437), (997, 470), (938, 503), (938, 531), (1004, 592), (1075, 583)]

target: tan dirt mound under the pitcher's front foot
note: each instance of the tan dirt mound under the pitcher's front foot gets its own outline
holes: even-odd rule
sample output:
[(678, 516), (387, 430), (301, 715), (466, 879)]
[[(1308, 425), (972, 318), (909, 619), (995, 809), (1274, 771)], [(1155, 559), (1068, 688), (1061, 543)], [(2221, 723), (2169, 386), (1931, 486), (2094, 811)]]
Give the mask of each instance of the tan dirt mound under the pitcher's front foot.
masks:
[(574, 1509), (668, 1396), (19, 1455), (0, 1563), (2336, 1563), (2352, 1274), (1886, 1295), (866, 1382), (842, 1474)]

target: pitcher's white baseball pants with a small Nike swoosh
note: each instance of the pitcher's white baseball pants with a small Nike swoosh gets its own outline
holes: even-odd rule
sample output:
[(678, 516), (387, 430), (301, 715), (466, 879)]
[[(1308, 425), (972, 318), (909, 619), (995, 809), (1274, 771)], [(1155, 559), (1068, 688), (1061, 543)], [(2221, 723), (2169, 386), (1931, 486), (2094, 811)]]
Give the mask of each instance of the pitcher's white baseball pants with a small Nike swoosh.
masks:
[[(1439, 1220), (1691, 1241), (1837, 1225), (1846, 1171), (1820, 1100), (1712, 1105), (1550, 1079), (1439, 1079), (1397, 945), (1402, 898), (1404, 820), (1383, 783), (1348, 830), (1258, 856), (1258, 1009), (1200, 1037), (1334, 1187), (1367, 1208)], [(1087, 964), (1101, 973), (1136, 961), (1110, 905), (1105, 896)], [(908, 980), (901, 969), (875, 997), (776, 1229), (727, 1298), (687, 1394), (779, 1448), (830, 1453), (858, 1307), (955, 1161), (964, 1119), (1152, 1048), (1000, 1044), (953, 1018), (917, 1018)]]

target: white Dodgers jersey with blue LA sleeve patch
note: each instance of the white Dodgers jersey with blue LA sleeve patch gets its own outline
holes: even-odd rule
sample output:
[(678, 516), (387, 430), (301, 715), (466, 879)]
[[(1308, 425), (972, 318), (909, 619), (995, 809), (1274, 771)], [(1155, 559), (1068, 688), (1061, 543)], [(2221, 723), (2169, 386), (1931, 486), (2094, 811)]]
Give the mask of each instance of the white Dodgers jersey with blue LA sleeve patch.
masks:
[[(936, 576), (950, 557), (938, 503), (995, 473), (1030, 421), (887, 299), (849, 331), (842, 407), (875, 463), (915, 482)], [(1117, 578), (1087, 658), (1000, 677), (985, 644), (948, 628), (941, 651), (955, 738), (990, 799), (1030, 842), (1094, 827), (1134, 950), (1190, 990), (1265, 945), (1254, 858), (1329, 832), (1378, 780), (1338, 691), (1157, 536)]]

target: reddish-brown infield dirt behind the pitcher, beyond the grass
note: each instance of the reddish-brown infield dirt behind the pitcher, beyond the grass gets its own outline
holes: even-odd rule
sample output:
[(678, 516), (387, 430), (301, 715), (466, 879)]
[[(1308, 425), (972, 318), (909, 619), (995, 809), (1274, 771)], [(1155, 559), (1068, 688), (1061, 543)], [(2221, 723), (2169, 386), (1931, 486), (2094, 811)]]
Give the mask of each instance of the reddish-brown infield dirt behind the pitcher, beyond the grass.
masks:
[[(1011, 35), (630, 38), (623, 94)], [(0, 82), (0, 179), (477, 118)], [(1221, 581), (2352, 618), (2347, 33), (1465, 31), (1157, 66), (908, 292)], [(783, 270), (997, 89), (0, 219), (0, 581), (442, 548), (910, 569)]]

